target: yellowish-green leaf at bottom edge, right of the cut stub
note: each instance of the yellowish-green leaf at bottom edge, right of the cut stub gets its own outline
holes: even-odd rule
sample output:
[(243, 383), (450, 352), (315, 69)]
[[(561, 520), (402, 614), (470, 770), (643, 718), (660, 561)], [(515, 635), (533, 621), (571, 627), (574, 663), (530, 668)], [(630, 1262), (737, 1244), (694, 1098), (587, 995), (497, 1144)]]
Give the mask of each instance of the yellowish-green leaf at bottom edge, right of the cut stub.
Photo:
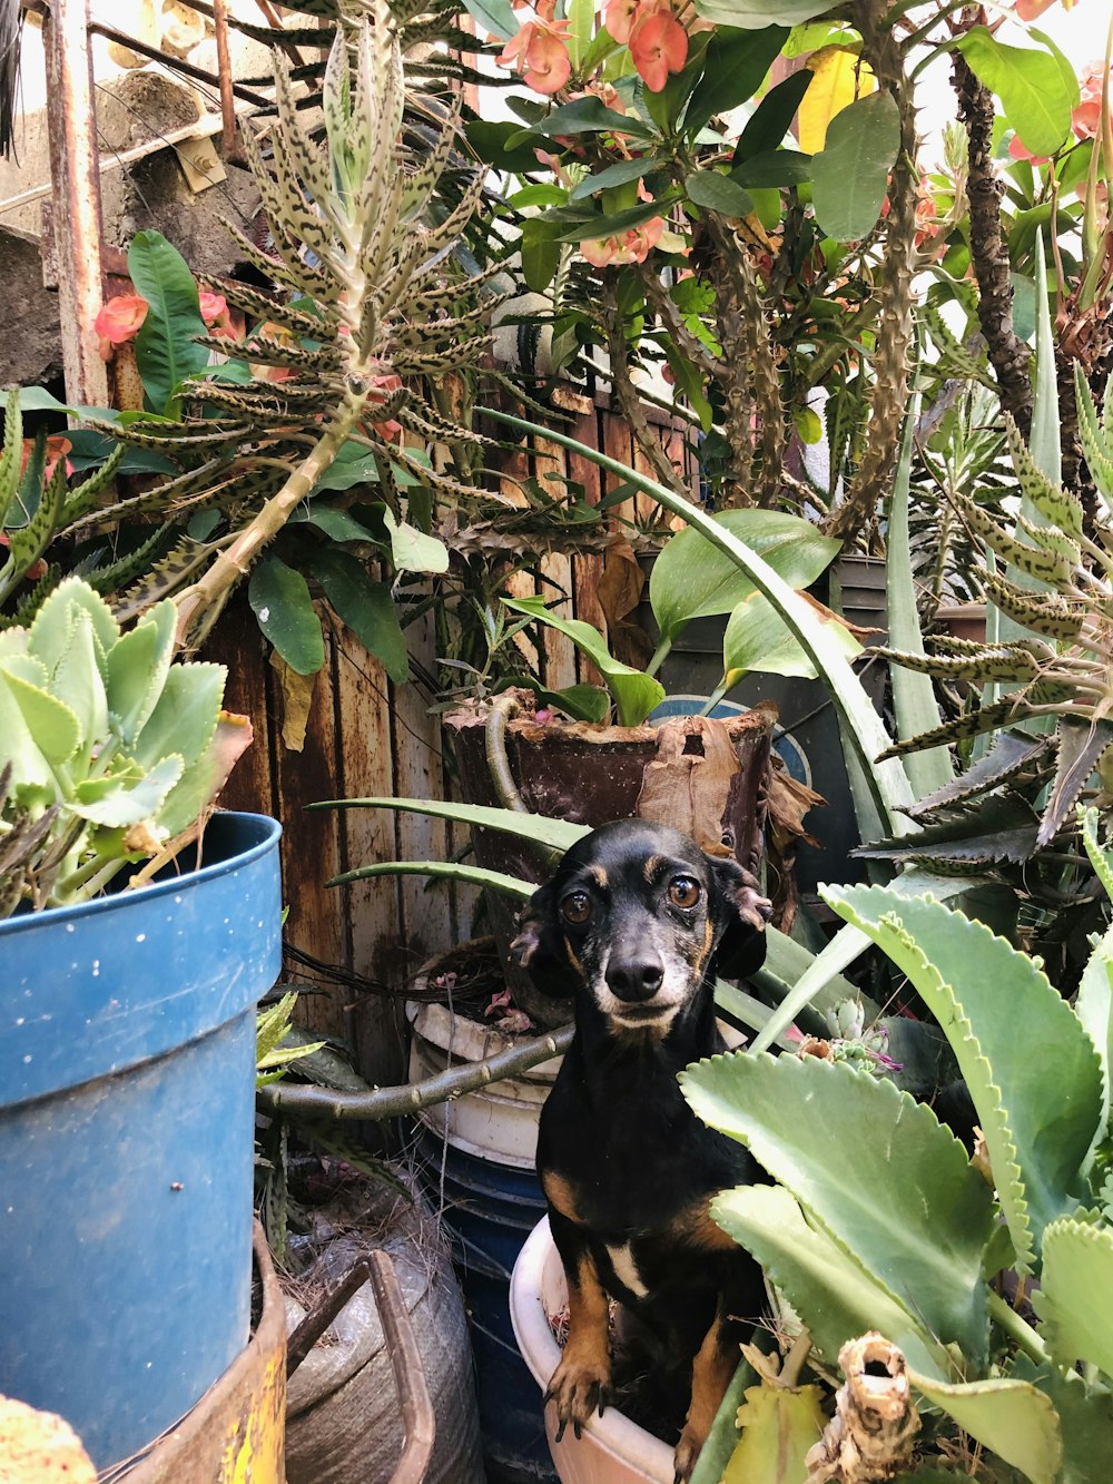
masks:
[(910, 1376), (913, 1386), (941, 1407), (963, 1432), (1031, 1480), (1057, 1484), (1063, 1460), (1060, 1419), (1051, 1401), (1030, 1382), (987, 1380), (965, 1386)]

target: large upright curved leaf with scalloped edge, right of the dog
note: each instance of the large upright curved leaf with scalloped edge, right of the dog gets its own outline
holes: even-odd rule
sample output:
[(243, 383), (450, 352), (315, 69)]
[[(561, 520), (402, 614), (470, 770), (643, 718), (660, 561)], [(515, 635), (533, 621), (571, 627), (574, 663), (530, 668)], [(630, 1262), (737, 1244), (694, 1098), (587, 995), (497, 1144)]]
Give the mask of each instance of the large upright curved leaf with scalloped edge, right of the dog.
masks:
[(1077, 1204), (1079, 1171), (1098, 1128), (1094, 1045), (1042, 969), (982, 923), (880, 886), (824, 896), (908, 975), (951, 1042), (1018, 1267), (1033, 1272), (1043, 1229)]

